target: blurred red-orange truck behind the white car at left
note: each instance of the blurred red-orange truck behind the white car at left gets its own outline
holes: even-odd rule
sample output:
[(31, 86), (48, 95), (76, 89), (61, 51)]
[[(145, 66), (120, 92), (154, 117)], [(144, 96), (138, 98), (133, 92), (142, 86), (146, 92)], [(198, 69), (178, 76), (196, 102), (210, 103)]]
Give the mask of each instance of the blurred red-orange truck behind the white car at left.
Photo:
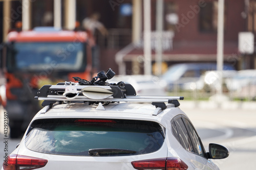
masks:
[(91, 50), (87, 33), (38, 27), (31, 31), (12, 31), (1, 49), (1, 65), (6, 78), (6, 111), (10, 136), (25, 132), (40, 109), (34, 100), (43, 84), (91, 80)]

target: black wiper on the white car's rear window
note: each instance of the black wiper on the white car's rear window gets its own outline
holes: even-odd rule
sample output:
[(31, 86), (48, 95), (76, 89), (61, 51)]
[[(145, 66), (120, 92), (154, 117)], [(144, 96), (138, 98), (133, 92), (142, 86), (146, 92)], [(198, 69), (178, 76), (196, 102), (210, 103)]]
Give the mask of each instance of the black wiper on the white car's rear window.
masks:
[(116, 148), (96, 148), (88, 151), (89, 155), (100, 156), (100, 155), (117, 155), (117, 154), (135, 154), (136, 151), (116, 149)]

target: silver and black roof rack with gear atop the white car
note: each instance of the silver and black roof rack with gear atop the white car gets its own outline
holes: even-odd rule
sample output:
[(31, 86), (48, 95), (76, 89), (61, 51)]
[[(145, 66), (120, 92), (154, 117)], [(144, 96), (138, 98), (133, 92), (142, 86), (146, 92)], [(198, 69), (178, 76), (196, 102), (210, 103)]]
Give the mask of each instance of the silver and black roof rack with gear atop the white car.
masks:
[[(112, 71), (112, 70), (111, 70)], [(108, 70), (109, 72), (109, 70)], [(107, 72), (107, 76), (109, 77)], [(102, 71), (100, 72), (102, 76)], [(113, 75), (112, 75), (113, 77)], [(112, 78), (111, 77), (111, 78)], [(140, 96), (131, 84), (119, 82), (117, 84), (105, 83), (105, 80), (88, 82), (75, 77), (79, 83), (65, 82), (57, 85), (44, 85), (35, 96), (36, 100), (44, 100), (42, 106), (53, 105), (57, 101), (69, 102), (89, 102), (89, 104), (113, 103), (113, 102), (141, 102), (152, 103), (152, 105), (166, 109), (165, 103), (174, 104), (178, 107), (178, 100), (183, 100), (183, 96)], [(96, 79), (96, 78), (94, 78)], [(81, 85), (82, 84), (82, 85)], [(90, 85), (83, 85), (90, 84)], [(103, 84), (103, 85), (102, 85)]]

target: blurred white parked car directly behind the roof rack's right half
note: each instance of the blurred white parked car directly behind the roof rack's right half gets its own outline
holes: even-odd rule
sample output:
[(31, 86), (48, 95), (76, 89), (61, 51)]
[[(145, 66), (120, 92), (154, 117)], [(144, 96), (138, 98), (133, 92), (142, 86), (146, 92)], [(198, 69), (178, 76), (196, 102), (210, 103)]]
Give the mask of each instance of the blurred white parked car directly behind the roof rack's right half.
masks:
[(132, 75), (115, 76), (109, 82), (120, 82), (132, 84), (137, 95), (166, 95), (166, 82), (156, 76)]

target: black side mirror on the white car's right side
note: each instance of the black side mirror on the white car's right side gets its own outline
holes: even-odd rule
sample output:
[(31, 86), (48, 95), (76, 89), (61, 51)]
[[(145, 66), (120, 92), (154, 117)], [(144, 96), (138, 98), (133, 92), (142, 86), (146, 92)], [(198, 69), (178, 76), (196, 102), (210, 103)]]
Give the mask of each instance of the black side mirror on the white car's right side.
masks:
[(210, 143), (209, 152), (207, 153), (208, 159), (224, 159), (229, 155), (229, 151), (223, 145)]

